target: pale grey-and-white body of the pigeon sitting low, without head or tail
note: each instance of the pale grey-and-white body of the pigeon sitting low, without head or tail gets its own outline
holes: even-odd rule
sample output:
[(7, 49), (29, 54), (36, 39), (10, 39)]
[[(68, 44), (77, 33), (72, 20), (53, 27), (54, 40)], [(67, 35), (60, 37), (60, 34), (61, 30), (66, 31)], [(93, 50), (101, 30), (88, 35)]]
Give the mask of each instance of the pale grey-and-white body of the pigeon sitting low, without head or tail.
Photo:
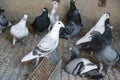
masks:
[[(93, 64), (91, 61), (89, 61), (86, 58), (76, 58), (69, 62), (66, 66), (66, 71), (69, 72), (70, 74), (76, 74), (79, 69), (76, 69), (75, 72), (73, 73), (74, 69), (78, 65), (78, 63), (83, 62), (84, 66), (80, 69), (80, 74), (84, 74), (86, 72), (89, 72), (91, 70), (97, 69), (97, 65)], [(88, 64), (93, 64), (93, 65), (88, 65)]]

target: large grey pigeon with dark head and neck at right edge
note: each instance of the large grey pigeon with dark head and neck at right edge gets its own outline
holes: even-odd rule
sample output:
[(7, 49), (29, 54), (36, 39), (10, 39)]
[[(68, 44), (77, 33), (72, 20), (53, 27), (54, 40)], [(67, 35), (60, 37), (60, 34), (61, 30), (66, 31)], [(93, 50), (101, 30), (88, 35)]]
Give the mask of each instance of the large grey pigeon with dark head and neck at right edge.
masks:
[(91, 37), (90, 45), (93, 49), (92, 53), (100, 62), (107, 65), (107, 73), (109, 73), (113, 65), (120, 64), (120, 54), (100, 32), (93, 31)]

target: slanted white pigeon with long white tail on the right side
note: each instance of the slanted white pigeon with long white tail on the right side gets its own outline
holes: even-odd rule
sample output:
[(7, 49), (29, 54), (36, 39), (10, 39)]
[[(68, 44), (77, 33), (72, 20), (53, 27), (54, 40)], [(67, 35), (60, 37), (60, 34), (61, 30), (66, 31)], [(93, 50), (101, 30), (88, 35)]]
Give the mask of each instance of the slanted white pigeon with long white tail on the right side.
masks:
[[(97, 22), (97, 24), (92, 28), (90, 29), (89, 32), (87, 32), (85, 34), (85, 36), (83, 36), (82, 38), (80, 38), (75, 45), (79, 45), (81, 43), (85, 43), (85, 42), (90, 42), (91, 41), (91, 35), (90, 33), (92, 31), (98, 31), (100, 32), (101, 34), (104, 33), (105, 31), (105, 21), (107, 19), (110, 19), (110, 14), (108, 12), (105, 12), (102, 17), (99, 19), (99, 21)], [(112, 26), (110, 26), (112, 28)]]

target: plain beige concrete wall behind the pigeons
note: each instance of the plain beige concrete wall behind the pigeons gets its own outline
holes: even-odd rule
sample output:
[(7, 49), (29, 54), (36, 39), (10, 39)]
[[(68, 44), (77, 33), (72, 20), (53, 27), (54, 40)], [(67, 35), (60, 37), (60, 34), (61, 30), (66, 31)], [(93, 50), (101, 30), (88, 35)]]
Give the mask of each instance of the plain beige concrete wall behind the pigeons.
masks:
[[(6, 16), (11, 21), (19, 21), (24, 14), (29, 15), (29, 22), (41, 14), (41, 10), (47, 7), (52, 8), (52, 0), (0, 0), (0, 4), (6, 9)], [(66, 12), (69, 9), (70, 0), (60, 0), (59, 14), (62, 20), (66, 19)], [(107, 0), (106, 7), (98, 7), (98, 0), (76, 0), (76, 6), (81, 10), (83, 20), (97, 21), (104, 11), (111, 13), (111, 22), (120, 21), (120, 0)]]

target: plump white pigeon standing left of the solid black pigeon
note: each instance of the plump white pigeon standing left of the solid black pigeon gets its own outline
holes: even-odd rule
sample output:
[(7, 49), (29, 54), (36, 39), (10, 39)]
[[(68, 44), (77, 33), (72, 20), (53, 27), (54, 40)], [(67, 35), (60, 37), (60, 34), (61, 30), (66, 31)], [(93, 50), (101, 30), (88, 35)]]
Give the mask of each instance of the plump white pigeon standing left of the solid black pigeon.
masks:
[(18, 39), (27, 37), (29, 34), (28, 28), (26, 26), (28, 15), (24, 15), (20, 22), (13, 25), (10, 29), (11, 35), (13, 35), (13, 46), (15, 45)]

